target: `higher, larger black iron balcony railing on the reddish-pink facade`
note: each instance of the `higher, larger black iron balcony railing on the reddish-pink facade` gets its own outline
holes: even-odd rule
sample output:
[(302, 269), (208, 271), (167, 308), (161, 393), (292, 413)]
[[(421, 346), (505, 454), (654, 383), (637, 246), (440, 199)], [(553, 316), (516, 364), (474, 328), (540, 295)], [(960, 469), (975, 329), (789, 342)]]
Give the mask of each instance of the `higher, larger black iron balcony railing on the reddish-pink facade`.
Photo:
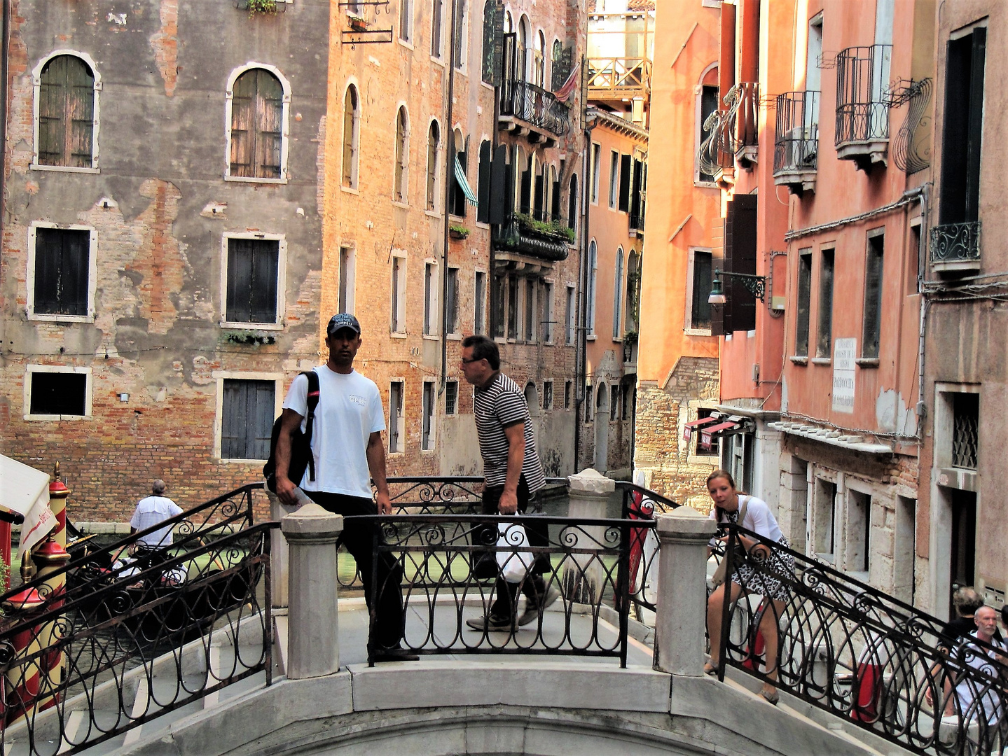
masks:
[(837, 147), (889, 138), (884, 95), (891, 57), (891, 44), (848, 47), (837, 54)]

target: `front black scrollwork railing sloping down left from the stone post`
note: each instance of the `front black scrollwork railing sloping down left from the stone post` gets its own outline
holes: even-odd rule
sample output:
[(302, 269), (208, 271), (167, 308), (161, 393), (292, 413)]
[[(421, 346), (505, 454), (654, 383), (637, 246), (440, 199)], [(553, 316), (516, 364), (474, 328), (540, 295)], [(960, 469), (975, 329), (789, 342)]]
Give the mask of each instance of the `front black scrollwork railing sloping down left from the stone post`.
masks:
[[(243, 524), (241, 514), (217, 524)], [(194, 530), (53, 590), (92, 569), (96, 554), (86, 555), (4, 594), (0, 750), (78, 753), (250, 675), (264, 672), (269, 685), (273, 526)]]

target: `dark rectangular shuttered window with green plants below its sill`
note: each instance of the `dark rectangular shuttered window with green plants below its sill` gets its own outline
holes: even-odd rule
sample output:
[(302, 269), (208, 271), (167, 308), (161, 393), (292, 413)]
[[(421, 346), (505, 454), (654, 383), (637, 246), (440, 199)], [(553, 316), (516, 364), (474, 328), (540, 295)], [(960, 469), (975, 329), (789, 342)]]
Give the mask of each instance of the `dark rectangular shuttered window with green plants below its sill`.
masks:
[(232, 323), (275, 323), (279, 242), (228, 240), (228, 302)]

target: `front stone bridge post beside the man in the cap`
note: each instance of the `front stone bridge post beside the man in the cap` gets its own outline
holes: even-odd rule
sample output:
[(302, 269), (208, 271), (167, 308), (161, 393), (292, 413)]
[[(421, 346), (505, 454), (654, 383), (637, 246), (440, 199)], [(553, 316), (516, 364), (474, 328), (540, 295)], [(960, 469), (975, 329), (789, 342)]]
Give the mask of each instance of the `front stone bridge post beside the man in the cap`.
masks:
[(312, 502), (280, 520), (289, 545), (287, 677), (332, 674), (340, 668), (336, 542), (343, 516)]

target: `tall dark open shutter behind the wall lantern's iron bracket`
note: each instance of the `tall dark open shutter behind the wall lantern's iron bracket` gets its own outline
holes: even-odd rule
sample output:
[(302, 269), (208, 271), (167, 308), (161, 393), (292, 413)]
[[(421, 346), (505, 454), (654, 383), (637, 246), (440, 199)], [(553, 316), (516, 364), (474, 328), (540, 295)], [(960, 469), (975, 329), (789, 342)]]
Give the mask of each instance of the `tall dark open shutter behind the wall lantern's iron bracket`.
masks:
[[(736, 194), (728, 203), (725, 217), (724, 270), (756, 274), (756, 195)], [(741, 279), (725, 277), (723, 305), (724, 333), (749, 331), (756, 327), (756, 298)]]

